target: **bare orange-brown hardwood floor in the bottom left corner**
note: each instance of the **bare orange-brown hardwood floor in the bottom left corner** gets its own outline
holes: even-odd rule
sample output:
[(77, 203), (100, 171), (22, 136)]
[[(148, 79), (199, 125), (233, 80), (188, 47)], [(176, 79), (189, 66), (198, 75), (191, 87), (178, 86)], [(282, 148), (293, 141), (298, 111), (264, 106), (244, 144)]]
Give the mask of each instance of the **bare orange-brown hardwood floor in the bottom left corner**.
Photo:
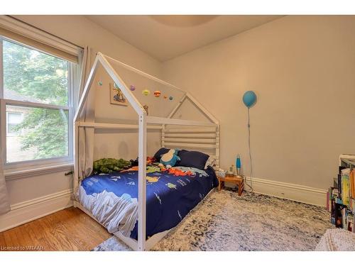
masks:
[(77, 208), (50, 214), (0, 233), (0, 250), (92, 250), (111, 236)]

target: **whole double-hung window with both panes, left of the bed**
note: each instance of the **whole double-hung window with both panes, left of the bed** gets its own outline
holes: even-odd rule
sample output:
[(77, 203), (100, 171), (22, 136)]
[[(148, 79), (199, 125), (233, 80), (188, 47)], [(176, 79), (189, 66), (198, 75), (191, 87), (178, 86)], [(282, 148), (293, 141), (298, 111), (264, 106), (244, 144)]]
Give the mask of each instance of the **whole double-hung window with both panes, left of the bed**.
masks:
[(77, 64), (1, 36), (0, 45), (4, 162), (11, 166), (72, 160)]

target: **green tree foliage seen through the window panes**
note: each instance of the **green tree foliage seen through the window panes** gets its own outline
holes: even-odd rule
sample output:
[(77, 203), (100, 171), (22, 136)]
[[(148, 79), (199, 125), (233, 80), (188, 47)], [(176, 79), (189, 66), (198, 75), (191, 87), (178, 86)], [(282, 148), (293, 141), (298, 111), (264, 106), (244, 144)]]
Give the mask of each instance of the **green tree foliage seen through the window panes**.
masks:
[[(8, 41), (4, 47), (4, 89), (31, 101), (67, 106), (68, 62)], [(16, 126), (26, 132), (21, 149), (35, 147), (35, 158), (68, 154), (67, 111), (30, 108)]]

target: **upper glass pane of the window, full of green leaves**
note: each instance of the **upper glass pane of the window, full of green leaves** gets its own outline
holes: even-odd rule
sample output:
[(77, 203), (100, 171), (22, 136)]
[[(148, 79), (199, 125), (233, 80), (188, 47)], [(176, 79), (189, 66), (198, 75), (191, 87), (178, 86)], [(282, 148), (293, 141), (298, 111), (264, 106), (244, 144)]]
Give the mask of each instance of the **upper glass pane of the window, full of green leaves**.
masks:
[(3, 41), (4, 98), (67, 106), (68, 62)]

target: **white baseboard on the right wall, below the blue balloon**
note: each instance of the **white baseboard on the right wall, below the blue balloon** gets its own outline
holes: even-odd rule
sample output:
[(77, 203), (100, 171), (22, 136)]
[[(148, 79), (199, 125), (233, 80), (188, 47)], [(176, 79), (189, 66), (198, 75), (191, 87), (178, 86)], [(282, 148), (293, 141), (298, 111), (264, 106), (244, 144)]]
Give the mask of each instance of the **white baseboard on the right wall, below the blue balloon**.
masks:
[[(294, 201), (304, 202), (317, 206), (326, 206), (327, 190), (314, 187), (301, 186), (285, 182), (277, 182), (268, 179), (246, 177), (247, 184), (253, 182), (253, 191), (260, 194), (277, 196), (283, 199), (292, 199)], [(244, 189), (249, 187), (244, 184)]]

